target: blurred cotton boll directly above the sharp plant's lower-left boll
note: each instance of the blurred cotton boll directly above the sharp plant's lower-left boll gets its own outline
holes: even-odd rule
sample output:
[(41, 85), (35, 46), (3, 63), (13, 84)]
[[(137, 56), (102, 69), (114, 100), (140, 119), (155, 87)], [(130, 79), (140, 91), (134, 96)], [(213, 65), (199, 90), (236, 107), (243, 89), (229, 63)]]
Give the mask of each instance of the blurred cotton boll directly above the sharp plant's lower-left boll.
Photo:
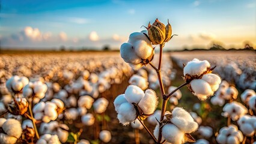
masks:
[(133, 74), (132, 77), (129, 79), (130, 85), (136, 85), (139, 86), (142, 90), (145, 90), (148, 88), (148, 82), (147, 79), (145, 79), (142, 76), (138, 76), (137, 74)]

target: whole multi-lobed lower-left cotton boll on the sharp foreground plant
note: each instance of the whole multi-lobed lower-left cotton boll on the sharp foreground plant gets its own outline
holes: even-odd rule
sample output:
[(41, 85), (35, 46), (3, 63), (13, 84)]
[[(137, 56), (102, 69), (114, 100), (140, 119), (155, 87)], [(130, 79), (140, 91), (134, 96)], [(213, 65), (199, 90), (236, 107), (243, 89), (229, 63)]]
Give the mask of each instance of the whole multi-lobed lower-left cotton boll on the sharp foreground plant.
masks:
[(115, 98), (114, 106), (118, 113), (117, 118), (123, 125), (135, 121), (136, 118), (153, 114), (158, 104), (156, 92), (147, 89), (145, 92), (135, 85), (129, 85), (124, 94)]

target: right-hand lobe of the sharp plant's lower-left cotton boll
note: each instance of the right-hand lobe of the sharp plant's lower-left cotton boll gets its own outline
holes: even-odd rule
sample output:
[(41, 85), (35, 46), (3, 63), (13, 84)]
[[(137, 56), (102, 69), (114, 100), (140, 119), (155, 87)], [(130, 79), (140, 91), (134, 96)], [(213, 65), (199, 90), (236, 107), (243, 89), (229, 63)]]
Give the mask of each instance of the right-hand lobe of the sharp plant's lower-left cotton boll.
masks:
[(145, 115), (151, 115), (154, 113), (158, 104), (158, 97), (156, 96), (156, 92), (152, 89), (147, 89), (145, 91), (145, 96), (142, 97), (141, 101), (139, 101), (138, 106), (144, 112)]

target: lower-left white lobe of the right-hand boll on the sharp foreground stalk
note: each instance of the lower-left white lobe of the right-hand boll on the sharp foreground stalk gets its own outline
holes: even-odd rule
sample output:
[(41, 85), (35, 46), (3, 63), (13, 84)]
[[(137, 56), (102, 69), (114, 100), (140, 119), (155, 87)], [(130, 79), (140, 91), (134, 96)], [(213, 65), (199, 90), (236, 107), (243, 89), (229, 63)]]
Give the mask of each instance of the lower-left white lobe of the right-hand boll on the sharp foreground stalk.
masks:
[(194, 91), (194, 95), (196, 95), (199, 100), (206, 100), (209, 96), (213, 95), (211, 86), (203, 79), (192, 80), (190, 86)]

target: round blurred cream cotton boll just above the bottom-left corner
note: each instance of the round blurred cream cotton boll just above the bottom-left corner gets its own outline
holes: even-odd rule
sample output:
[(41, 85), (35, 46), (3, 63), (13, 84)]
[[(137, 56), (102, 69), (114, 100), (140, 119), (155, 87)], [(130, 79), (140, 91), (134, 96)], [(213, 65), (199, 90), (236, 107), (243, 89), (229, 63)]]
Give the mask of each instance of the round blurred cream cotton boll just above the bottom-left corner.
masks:
[(19, 139), (22, 134), (21, 124), (16, 119), (7, 119), (7, 121), (2, 124), (2, 129), (8, 136), (14, 136), (17, 139)]

